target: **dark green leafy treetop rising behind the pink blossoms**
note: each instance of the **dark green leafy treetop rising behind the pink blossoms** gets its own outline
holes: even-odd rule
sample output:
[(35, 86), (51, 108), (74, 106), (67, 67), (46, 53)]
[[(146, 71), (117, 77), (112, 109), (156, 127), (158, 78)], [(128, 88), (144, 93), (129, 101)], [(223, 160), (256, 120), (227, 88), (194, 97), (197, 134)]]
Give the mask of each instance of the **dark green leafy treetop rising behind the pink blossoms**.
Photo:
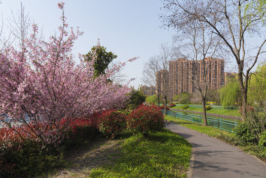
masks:
[(102, 74), (105, 74), (105, 69), (108, 69), (108, 65), (117, 57), (117, 55), (114, 55), (113, 52), (107, 52), (106, 47), (104, 46), (93, 46), (91, 50), (85, 54), (85, 61), (92, 60), (91, 56), (93, 56), (93, 51), (95, 50), (97, 53), (97, 59), (95, 60), (93, 67), (94, 76), (98, 77)]

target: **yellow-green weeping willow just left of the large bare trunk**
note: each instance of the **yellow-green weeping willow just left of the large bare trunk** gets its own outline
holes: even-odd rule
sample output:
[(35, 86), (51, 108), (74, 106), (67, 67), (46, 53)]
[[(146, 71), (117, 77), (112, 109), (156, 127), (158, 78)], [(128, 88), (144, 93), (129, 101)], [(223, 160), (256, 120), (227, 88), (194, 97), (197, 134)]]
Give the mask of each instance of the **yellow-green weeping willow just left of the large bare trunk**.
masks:
[(232, 105), (235, 102), (238, 103), (241, 99), (241, 90), (236, 76), (228, 79), (227, 85), (220, 91), (220, 98), (224, 107)]

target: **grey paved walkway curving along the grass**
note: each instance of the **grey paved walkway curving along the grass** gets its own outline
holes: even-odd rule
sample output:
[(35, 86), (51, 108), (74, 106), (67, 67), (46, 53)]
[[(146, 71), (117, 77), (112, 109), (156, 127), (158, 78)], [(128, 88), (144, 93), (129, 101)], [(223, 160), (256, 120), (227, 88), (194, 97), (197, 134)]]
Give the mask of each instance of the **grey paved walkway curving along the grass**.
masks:
[(166, 128), (193, 145), (188, 178), (266, 178), (266, 163), (239, 148), (177, 124)]

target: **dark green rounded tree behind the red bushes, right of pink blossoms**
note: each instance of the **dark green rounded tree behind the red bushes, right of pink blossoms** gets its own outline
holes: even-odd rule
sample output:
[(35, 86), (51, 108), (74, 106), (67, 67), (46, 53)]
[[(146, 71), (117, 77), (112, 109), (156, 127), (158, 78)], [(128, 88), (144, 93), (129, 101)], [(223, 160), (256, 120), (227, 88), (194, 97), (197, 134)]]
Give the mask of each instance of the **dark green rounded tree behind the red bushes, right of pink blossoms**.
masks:
[(126, 105), (127, 109), (136, 109), (137, 107), (139, 107), (140, 104), (142, 104), (146, 100), (146, 96), (139, 89), (138, 90), (133, 89), (129, 93), (129, 95), (130, 97)]

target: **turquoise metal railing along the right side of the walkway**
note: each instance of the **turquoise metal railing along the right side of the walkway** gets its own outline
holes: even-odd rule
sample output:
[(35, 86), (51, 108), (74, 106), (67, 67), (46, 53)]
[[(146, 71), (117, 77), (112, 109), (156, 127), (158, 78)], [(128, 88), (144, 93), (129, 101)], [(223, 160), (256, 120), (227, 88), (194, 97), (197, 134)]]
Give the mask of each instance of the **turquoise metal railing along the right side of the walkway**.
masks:
[[(164, 110), (161, 110), (162, 113), (164, 114)], [(175, 111), (166, 111), (166, 115), (172, 116), (175, 118), (183, 119), (186, 121), (191, 121), (194, 123), (199, 123), (203, 124), (203, 116), (201, 115), (196, 115), (196, 114), (185, 114), (182, 112), (175, 112)], [(233, 129), (237, 126), (236, 121), (228, 121), (224, 119), (217, 119), (217, 118), (212, 118), (207, 116), (207, 125), (212, 126), (215, 128), (218, 128), (220, 130), (225, 130), (229, 132), (233, 132)]]

